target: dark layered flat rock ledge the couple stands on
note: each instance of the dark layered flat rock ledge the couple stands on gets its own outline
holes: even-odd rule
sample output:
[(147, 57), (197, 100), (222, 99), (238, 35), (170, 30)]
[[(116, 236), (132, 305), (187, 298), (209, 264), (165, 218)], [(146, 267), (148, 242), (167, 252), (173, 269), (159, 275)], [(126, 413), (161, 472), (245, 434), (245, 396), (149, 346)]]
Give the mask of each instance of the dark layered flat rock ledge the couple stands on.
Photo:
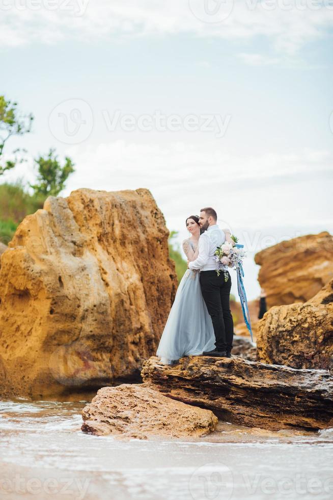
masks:
[(165, 396), (212, 410), (228, 422), (271, 430), (333, 426), (333, 377), (326, 370), (295, 370), (237, 356), (192, 356), (175, 365), (152, 357), (142, 376)]

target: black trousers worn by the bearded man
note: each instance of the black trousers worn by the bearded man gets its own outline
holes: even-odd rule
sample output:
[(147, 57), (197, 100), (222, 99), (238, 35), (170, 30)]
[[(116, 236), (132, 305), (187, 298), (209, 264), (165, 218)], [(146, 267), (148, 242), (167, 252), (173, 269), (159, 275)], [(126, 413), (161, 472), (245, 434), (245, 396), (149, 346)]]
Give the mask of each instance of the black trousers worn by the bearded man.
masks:
[(234, 336), (234, 322), (230, 311), (231, 277), (225, 281), (224, 271), (201, 271), (200, 285), (208, 312), (212, 318), (215, 345), (219, 351), (231, 351)]

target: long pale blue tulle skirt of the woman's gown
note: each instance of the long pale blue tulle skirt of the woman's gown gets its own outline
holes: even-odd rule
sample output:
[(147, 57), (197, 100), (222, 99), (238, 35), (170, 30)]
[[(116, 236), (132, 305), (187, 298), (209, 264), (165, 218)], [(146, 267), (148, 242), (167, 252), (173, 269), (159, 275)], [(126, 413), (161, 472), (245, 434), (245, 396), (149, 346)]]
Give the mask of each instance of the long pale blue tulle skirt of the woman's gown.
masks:
[(203, 351), (215, 348), (213, 323), (199, 279), (199, 271), (187, 269), (179, 283), (156, 353), (163, 364), (171, 364), (183, 356), (201, 355)]

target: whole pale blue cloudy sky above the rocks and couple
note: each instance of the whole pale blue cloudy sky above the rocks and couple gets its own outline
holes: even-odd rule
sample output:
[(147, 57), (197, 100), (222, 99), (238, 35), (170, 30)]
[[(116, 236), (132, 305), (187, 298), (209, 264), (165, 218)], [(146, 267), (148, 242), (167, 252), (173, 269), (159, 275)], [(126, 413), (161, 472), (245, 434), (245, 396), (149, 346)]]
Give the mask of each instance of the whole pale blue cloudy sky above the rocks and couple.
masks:
[[(0, 94), (35, 116), (8, 142), (33, 182), (56, 148), (78, 188), (148, 188), (170, 230), (212, 206), (254, 255), (329, 231), (333, 0), (0, 0)], [(236, 292), (236, 279), (232, 291)]]

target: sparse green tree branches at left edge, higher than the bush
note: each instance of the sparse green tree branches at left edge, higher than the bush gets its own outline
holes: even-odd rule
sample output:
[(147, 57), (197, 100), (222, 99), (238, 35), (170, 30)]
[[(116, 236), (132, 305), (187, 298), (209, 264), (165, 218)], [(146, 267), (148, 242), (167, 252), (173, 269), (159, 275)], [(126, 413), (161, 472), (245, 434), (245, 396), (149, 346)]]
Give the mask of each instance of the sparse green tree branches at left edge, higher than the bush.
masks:
[(0, 95), (0, 176), (6, 171), (14, 168), (16, 163), (23, 161), (16, 156), (18, 152), (25, 151), (15, 149), (14, 160), (2, 161), (4, 147), (8, 139), (14, 135), (23, 135), (31, 131), (34, 117), (32, 114), (21, 115), (17, 110), (17, 103), (6, 101), (4, 95)]

